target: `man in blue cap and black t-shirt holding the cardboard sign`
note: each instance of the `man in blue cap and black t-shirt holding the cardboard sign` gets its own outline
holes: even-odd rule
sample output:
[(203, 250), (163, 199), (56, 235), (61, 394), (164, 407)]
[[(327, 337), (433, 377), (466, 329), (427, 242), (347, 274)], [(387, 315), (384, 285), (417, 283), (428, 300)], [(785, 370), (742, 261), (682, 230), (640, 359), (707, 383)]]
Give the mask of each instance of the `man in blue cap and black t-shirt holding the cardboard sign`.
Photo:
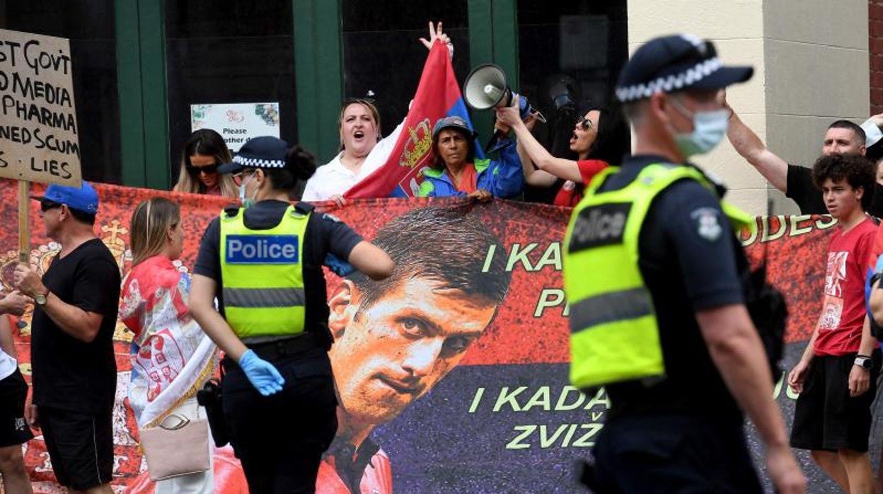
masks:
[(119, 267), (94, 235), (98, 194), (91, 185), (50, 185), (32, 199), (40, 201), (46, 235), (62, 247), (42, 278), (26, 264), (15, 270), (19, 290), (35, 304), (34, 403), (26, 418), (42, 429), (58, 483), (112, 492)]

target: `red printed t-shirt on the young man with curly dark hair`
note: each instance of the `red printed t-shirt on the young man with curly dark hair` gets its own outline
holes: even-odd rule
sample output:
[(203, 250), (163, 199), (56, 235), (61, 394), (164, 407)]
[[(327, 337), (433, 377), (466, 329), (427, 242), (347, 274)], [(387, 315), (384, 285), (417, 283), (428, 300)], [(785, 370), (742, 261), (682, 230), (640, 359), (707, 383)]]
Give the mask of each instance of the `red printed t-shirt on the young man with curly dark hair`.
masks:
[(862, 341), (864, 316), (864, 268), (871, 255), (877, 225), (868, 217), (831, 237), (827, 252), (825, 293), (819, 316), (819, 336), (813, 353), (855, 353)]

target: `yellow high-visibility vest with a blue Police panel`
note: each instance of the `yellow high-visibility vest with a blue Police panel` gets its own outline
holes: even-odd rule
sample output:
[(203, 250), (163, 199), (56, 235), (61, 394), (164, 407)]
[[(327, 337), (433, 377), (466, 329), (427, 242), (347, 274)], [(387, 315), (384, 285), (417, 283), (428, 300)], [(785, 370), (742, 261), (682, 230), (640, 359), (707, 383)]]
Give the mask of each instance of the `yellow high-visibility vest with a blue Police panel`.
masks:
[(309, 214), (294, 206), (268, 230), (245, 227), (244, 212), (221, 214), (224, 315), (239, 338), (304, 331), (304, 234)]

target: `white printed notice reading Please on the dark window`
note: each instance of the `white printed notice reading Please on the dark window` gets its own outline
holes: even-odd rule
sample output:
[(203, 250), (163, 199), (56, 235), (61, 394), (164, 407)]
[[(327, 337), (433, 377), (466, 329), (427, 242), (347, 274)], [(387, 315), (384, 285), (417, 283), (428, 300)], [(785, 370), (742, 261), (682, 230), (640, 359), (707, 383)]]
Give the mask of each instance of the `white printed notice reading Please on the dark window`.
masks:
[(279, 137), (279, 103), (192, 104), (190, 126), (220, 133), (235, 153), (253, 137)]

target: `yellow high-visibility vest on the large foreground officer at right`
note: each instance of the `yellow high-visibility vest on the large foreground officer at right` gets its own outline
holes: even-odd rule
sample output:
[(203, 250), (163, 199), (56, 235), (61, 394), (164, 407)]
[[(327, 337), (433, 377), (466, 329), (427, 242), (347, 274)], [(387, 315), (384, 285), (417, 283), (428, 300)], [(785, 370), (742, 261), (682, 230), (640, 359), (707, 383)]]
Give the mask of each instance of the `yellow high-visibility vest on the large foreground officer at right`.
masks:
[[(714, 190), (688, 166), (654, 163), (620, 190), (597, 192), (616, 169), (586, 187), (564, 238), (564, 290), (570, 303), (570, 382), (577, 388), (665, 376), (653, 298), (638, 269), (638, 237), (653, 198), (682, 179)], [(737, 231), (751, 217), (725, 201)]]

